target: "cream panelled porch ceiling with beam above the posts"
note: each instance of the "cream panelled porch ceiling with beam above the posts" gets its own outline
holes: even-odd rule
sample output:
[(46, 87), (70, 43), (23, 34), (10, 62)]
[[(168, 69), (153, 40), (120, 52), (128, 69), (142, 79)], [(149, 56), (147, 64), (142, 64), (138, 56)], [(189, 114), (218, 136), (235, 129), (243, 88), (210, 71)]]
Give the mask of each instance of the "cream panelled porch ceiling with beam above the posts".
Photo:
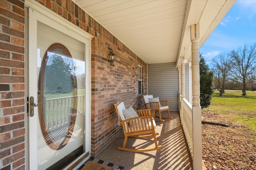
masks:
[(235, 0), (74, 2), (146, 63), (180, 65), (191, 58), (190, 25), (200, 23), (201, 47)]

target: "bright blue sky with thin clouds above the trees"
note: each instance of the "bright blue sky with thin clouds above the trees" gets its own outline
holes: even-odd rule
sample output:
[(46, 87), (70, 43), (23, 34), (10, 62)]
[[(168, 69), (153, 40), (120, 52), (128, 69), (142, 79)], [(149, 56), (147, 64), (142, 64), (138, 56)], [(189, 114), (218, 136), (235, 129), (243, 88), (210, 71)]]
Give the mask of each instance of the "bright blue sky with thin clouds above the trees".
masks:
[(199, 52), (211, 67), (212, 58), (256, 43), (256, 0), (238, 0)]

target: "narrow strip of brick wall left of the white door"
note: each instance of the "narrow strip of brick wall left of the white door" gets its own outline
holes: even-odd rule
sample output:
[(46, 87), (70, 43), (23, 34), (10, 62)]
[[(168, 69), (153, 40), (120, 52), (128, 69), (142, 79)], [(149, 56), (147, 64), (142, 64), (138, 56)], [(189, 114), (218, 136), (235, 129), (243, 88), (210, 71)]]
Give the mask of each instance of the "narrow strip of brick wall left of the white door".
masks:
[(0, 167), (25, 169), (24, 3), (0, 0)]

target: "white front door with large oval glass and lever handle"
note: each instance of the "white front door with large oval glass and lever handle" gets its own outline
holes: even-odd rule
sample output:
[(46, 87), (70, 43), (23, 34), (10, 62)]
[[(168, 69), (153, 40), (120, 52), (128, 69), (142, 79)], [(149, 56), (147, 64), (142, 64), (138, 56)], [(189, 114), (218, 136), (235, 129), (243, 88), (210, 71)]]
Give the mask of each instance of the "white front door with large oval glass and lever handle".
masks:
[(29, 8), (30, 170), (56, 170), (89, 154), (90, 40)]

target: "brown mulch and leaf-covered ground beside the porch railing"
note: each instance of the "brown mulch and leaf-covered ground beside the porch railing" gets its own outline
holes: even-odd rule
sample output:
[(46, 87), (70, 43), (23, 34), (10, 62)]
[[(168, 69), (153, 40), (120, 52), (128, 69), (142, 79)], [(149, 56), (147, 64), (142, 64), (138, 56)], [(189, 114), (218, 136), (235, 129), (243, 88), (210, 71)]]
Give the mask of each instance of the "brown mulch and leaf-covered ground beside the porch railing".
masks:
[(202, 157), (208, 170), (256, 170), (256, 132), (232, 115), (202, 110)]

